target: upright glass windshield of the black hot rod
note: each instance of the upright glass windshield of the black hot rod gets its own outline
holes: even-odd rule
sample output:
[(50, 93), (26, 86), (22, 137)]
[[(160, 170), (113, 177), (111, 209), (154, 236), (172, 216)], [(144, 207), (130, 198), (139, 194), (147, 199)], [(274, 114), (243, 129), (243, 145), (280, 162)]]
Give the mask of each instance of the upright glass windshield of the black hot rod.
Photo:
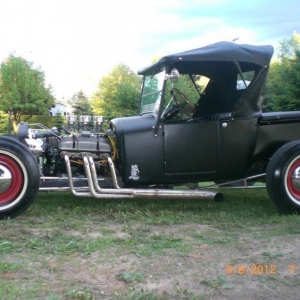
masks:
[(165, 76), (165, 71), (155, 75), (145, 76), (141, 96), (140, 114), (158, 112)]

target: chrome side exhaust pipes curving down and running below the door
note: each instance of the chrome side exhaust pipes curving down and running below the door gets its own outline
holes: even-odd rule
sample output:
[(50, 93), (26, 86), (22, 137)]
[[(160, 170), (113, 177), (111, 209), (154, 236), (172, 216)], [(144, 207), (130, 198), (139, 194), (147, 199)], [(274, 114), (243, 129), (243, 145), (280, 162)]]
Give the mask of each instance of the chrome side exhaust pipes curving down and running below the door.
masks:
[(101, 188), (98, 184), (97, 172), (93, 158), (87, 153), (82, 153), (84, 169), (88, 182), (88, 191), (78, 190), (74, 187), (71, 171), (71, 164), (68, 155), (64, 156), (68, 181), (71, 193), (78, 197), (94, 198), (201, 198), (208, 200), (223, 200), (223, 194), (220, 192), (205, 190), (169, 190), (169, 189), (138, 189), (138, 188), (120, 188), (117, 182), (117, 175), (112, 159), (108, 158), (111, 178), (114, 188)]

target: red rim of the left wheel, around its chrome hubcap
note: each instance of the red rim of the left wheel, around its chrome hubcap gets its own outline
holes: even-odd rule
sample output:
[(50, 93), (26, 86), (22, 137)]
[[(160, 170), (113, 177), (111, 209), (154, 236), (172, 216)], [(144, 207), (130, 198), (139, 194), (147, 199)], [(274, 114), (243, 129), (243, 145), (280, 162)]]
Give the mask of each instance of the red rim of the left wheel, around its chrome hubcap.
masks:
[(23, 187), (23, 172), (14, 159), (0, 154), (0, 168), (3, 166), (11, 175), (11, 182), (7, 189), (0, 191), (0, 204), (7, 204), (16, 199)]

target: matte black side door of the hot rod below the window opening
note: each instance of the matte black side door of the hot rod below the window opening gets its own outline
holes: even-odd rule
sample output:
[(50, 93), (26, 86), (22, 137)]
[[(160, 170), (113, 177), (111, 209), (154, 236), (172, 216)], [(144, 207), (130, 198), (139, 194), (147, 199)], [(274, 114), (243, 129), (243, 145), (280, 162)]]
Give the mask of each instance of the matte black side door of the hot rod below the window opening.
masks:
[(164, 124), (165, 173), (215, 173), (218, 153), (218, 121)]

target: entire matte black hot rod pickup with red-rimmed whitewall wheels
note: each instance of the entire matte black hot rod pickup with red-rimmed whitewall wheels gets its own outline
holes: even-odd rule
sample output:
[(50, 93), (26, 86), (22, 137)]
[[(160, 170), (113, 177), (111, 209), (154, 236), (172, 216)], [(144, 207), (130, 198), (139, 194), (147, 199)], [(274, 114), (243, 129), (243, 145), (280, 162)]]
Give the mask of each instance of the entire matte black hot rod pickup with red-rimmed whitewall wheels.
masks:
[(222, 199), (199, 182), (259, 181), (281, 210), (299, 212), (300, 112), (261, 110), (272, 55), (268, 45), (219, 42), (165, 56), (139, 71), (139, 114), (105, 131), (101, 117), (74, 117), (64, 132), (20, 123), (17, 136), (0, 137), (0, 218), (22, 213), (39, 190)]

